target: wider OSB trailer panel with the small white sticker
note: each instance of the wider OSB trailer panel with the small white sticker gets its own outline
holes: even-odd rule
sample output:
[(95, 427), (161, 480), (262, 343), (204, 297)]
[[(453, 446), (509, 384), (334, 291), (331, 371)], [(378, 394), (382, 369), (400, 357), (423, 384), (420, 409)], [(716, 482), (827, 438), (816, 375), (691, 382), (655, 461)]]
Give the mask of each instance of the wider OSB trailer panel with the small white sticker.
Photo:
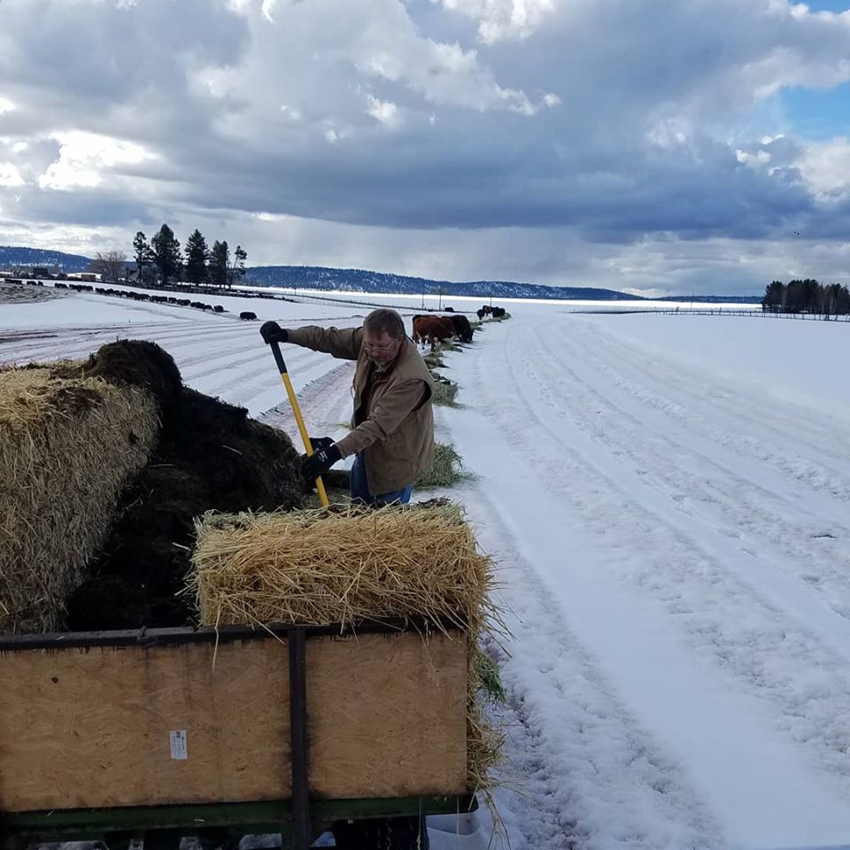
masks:
[[(276, 640), (0, 655), (0, 809), (267, 800), (290, 793)], [(186, 733), (186, 758), (171, 733)]]

